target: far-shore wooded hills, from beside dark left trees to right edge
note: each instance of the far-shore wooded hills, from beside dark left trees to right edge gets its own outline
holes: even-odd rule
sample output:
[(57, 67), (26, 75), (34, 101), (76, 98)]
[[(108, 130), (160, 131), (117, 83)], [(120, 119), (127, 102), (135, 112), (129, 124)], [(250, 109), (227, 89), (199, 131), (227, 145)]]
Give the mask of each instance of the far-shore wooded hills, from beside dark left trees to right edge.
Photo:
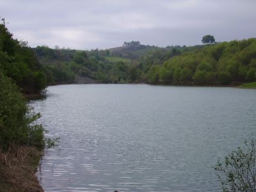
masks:
[[(141, 45), (143, 46), (143, 45)], [(144, 45), (145, 46), (145, 45)], [(77, 51), (38, 46), (33, 49), (48, 84), (93, 83), (241, 84), (256, 81), (256, 39), (208, 45), (133, 49), (136, 59), (106, 50)], [(127, 46), (124, 51), (127, 52)]]

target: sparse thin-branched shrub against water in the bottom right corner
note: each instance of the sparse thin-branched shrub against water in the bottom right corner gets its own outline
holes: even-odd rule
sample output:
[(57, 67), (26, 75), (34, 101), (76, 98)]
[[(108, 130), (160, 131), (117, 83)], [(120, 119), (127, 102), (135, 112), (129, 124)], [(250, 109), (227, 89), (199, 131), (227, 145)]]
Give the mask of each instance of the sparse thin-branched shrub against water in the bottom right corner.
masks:
[(233, 150), (214, 169), (223, 191), (256, 191), (256, 139), (245, 142), (246, 148)]

